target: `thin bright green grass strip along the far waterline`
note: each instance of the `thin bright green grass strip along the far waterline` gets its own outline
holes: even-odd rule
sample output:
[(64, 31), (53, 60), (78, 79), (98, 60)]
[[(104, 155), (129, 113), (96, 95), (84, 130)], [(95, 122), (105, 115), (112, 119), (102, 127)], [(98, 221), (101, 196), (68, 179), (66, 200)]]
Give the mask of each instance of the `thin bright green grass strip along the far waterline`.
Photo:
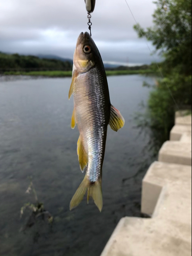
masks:
[[(119, 75), (134, 75), (134, 74), (152, 74), (152, 70), (115, 70), (115, 71), (106, 71), (107, 76), (119, 76)], [(23, 76), (47, 76), (47, 77), (71, 77), (71, 71), (9, 71), (5, 72), (4, 75), (23, 75)]]

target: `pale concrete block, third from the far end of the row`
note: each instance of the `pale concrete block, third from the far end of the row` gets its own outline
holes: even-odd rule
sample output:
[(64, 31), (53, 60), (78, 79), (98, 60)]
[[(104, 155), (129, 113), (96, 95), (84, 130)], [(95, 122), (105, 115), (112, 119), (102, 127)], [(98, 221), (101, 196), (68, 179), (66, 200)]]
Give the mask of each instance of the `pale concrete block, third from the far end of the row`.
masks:
[(159, 152), (159, 161), (191, 166), (191, 143), (165, 142)]

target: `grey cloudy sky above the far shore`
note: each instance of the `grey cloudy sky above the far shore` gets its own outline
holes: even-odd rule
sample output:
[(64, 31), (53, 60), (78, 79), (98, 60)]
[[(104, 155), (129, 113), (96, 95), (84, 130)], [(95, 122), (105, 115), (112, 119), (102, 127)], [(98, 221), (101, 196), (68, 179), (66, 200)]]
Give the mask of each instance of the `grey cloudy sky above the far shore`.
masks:
[[(153, 0), (127, 0), (143, 27), (152, 25)], [(0, 51), (73, 58), (80, 32), (88, 30), (84, 0), (0, 0)], [(104, 62), (151, 63), (145, 39), (125, 0), (96, 0), (92, 33)], [(148, 42), (151, 50), (153, 46)]]

